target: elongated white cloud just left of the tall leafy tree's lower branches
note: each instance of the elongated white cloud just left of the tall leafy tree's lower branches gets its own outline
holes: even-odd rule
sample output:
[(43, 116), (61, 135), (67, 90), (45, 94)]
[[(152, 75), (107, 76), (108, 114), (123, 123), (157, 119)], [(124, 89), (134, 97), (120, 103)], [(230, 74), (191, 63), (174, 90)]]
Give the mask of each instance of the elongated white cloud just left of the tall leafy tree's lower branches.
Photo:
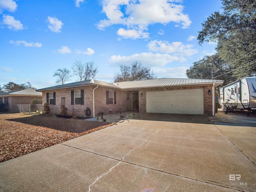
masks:
[(158, 41), (158, 40), (154, 40), (148, 43), (148, 48), (150, 51), (181, 55), (181, 56), (192, 56), (198, 53), (196, 49), (192, 49), (193, 46), (194, 45), (190, 45), (190, 44), (184, 45), (182, 42), (169, 43), (168, 41)]

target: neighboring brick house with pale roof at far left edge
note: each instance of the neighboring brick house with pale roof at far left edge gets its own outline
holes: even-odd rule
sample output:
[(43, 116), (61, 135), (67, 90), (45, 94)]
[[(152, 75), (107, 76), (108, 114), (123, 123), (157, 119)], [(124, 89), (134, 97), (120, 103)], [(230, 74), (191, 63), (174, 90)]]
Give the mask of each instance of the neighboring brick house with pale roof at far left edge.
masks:
[(42, 100), (42, 93), (33, 88), (0, 93), (0, 103), (8, 105), (9, 112), (17, 111), (15, 105), (31, 104), (34, 98)]

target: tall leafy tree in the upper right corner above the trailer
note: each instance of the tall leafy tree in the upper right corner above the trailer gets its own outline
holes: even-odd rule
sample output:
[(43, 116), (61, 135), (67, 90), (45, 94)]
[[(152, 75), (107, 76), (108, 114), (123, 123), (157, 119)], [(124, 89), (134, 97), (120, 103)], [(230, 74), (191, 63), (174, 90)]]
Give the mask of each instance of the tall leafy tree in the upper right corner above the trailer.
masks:
[(217, 42), (220, 58), (238, 79), (256, 71), (256, 1), (222, 0), (223, 12), (202, 23), (199, 44)]

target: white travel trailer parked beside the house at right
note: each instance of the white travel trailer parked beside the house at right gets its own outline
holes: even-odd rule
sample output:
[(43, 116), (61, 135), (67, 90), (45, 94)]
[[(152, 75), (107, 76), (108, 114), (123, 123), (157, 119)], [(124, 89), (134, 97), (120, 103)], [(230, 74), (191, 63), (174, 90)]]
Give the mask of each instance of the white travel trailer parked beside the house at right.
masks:
[(244, 77), (220, 89), (220, 104), (226, 108), (256, 112), (256, 77)]

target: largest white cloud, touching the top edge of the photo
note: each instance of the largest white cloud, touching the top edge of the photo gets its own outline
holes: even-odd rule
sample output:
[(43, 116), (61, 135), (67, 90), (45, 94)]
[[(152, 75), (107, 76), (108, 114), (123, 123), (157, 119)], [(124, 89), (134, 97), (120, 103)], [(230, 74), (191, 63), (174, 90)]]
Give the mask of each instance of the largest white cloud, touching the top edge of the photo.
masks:
[[(180, 0), (102, 0), (102, 12), (107, 19), (100, 20), (99, 29), (104, 29), (114, 24), (123, 24), (127, 30), (148, 30), (148, 25), (170, 22), (178, 23), (182, 28), (188, 28), (192, 23), (187, 14), (183, 13), (184, 6)], [(130, 31), (129, 31), (130, 32)], [(129, 35), (126, 36), (129, 38)], [(132, 38), (135, 38), (132, 36)], [(148, 38), (148, 35), (140, 38)]]

